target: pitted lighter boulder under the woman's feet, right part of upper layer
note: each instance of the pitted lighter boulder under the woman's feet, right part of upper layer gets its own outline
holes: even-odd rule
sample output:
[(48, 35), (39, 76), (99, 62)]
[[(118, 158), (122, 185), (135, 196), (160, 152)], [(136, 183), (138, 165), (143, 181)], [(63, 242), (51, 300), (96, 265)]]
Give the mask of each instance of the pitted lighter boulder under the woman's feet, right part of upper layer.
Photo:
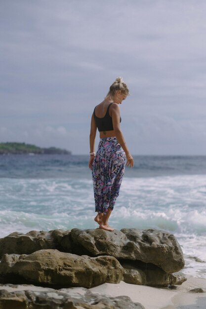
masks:
[(122, 229), (108, 232), (71, 230), (73, 252), (90, 256), (111, 255), (120, 259), (154, 264), (172, 273), (184, 267), (181, 247), (174, 235), (158, 231)]

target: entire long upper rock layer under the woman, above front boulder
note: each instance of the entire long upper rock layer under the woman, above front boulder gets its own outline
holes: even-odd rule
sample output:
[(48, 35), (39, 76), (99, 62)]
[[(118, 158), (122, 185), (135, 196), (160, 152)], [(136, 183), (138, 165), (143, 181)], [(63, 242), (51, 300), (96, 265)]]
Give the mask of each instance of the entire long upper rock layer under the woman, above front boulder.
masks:
[(138, 260), (152, 263), (166, 272), (184, 267), (183, 253), (173, 234), (165, 231), (122, 229), (108, 232), (102, 229), (49, 232), (13, 232), (0, 239), (0, 256), (7, 253), (30, 254), (41, 249), (88, 255), (114, 256), (118, 260)]

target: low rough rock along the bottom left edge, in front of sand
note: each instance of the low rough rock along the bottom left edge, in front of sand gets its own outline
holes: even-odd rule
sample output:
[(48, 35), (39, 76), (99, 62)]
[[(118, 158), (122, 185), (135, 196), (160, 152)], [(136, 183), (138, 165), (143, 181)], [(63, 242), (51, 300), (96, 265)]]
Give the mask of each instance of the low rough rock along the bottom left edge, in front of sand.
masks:
[[(38, 287), (35, 287), (38, 288)], [(3, 309), (144, 309), (127, 296), (107, 297), (92, 294), (85, 288), (34, 290), (34, 286), (9, 285), (0, 290), (0, 308)]]

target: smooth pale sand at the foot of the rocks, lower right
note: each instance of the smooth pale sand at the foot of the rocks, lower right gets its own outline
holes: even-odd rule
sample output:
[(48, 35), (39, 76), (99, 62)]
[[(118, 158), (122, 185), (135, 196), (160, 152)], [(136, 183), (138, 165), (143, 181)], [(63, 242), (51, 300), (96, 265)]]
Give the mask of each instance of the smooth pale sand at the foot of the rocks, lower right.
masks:
[(128, 284), (121, 281), (119, 284), (104, 283), (91, 288), (90, 291), (113, 297), (126, 295), (133, 302), (142, 304), (145, 309), (206, 309), (206, 292), (189, 292), (199, 287), (206, 291), (206, 279), (187, 276), (187, 281), (176, 289)]

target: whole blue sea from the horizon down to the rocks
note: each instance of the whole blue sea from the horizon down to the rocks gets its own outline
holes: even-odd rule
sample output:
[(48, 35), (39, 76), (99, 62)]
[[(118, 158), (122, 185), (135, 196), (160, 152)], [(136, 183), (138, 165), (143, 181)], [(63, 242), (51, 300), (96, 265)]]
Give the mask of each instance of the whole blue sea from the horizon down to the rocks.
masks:
[[(0, 237), (94, 229), (94, 216), (87, 155), (0, 155)], [(134, 156), (110, 225), (174, 234), (183, 272), (206, 278), (206, 156)]]

